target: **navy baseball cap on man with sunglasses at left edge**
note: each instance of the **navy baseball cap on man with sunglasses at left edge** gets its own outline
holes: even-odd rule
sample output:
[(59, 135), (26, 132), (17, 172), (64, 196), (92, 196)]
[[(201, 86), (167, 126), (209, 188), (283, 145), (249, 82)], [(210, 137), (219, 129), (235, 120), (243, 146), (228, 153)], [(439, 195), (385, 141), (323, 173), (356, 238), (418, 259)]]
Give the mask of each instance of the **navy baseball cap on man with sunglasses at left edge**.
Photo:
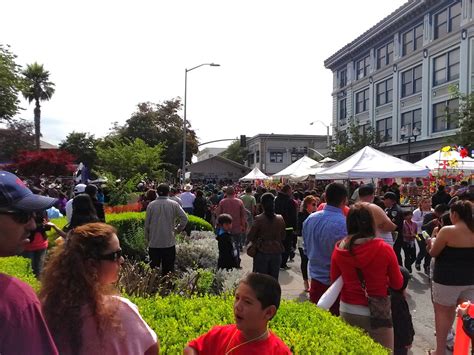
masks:
[(50, 208), (57, 200), (35, 195), (15, 174), (0, 170), (0, 208), (20, 211), (41, 211)]

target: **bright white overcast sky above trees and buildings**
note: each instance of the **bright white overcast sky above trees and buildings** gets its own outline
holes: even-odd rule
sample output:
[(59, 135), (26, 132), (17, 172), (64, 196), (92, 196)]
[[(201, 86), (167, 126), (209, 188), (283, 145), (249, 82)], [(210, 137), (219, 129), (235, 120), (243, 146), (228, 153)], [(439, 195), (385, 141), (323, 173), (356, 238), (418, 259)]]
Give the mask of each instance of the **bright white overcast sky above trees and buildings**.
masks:
[[(107, 134), (140, 102), (184, 97), (201, 142), (259, 133), (326, 134), (324, 60), (406, 0), (2, 0), (0, 43), (44, 64), (43, 140)], [(382, 5), (383, 4), (383, 5)], [(22, 101), (19, 117), (33, 119)], [(226, 146), (214, 143), (207, 146)], [(206, 146), (203, 146), (203, 148)]]

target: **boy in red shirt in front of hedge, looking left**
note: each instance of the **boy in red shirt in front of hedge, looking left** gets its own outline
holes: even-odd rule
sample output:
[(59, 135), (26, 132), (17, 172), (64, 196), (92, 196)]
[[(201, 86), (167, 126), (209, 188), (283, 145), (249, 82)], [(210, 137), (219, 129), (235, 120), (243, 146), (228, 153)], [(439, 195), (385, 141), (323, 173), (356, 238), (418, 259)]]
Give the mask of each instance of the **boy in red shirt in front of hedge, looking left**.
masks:
[(192, 340), (184, 355), (287, 355), (290, 349), (268, 330), (280, 305), (281, 288), (273, 277), (250, 273), (235, 292), (235, 324), (213, 327)]

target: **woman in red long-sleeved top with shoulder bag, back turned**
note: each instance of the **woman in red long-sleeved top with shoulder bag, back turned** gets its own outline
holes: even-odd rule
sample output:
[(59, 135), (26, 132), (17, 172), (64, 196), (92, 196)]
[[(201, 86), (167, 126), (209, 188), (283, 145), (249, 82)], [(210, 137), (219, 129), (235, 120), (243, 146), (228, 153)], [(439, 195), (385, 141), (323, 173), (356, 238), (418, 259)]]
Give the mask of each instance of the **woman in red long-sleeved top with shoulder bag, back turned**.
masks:
[(388, 287), (403, 286), (403, 277), (393, 248), (375, 238), (370, 210), (361, 203), (351, 207), (347, 216), (348, 236), (335, 247), (331, 259), (331, 281), (342, 275), (340, 315), (349, 324), (362, 328), (370, 337), (393, 350), (393, 328), (370, 326), (367, 297), (356, 269), (362, 271), (369, 296), (387, 296)]

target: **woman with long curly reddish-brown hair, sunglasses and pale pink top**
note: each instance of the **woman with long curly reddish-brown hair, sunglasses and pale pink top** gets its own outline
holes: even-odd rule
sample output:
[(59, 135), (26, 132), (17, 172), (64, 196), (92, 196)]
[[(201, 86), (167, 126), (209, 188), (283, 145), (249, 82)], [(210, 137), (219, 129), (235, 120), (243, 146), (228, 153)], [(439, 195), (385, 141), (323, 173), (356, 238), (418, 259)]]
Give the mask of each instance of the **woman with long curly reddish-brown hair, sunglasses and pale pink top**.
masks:
[(155, 332), (115, 284), (124, 259), (105, 223), (74, 228), (45, 266), (40, 299), (61, 354), (157, 354)]

